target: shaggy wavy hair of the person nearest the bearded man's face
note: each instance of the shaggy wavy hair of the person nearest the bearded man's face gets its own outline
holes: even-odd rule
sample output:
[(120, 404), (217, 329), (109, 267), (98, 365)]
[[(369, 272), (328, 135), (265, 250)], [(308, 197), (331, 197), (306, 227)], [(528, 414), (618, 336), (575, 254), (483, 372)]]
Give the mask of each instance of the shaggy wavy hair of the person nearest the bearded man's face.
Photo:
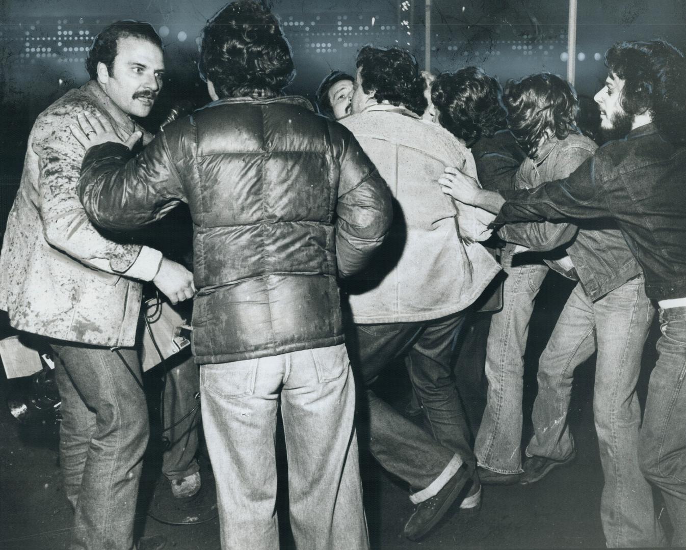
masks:
[(574, 86), (558, 75), (539, 73), (521, 80), (508, 80), (503, 93), (508, 125), (522, 149), (536, 157), (547, 132), (557, 139), (580, 134), (576, 126), (579, 99)]

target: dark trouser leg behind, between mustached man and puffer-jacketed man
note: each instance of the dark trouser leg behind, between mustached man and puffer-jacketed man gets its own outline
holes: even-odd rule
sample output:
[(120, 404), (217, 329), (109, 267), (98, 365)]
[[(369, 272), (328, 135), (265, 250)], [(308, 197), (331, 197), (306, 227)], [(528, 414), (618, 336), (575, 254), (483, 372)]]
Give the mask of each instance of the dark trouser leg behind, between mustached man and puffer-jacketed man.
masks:
[(188, 349), (170, 361), (163, 392), (162, 434), (169, 444), (162, 457), (162, 473), (171, 481), (200, 470), (196, 459), (200, 425), (200, 401), (196, 394), (200, 391), (200, 374)]

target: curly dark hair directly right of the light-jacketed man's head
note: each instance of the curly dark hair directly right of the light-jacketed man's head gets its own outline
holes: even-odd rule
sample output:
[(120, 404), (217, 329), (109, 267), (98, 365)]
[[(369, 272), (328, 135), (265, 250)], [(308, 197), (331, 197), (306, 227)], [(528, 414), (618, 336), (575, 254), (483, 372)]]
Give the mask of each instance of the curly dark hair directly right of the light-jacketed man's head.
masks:
[(503, 88), (479, 67), (440, 73), (431, 85), (431, 102), (443, 128), (471, 147), (507, 128)]

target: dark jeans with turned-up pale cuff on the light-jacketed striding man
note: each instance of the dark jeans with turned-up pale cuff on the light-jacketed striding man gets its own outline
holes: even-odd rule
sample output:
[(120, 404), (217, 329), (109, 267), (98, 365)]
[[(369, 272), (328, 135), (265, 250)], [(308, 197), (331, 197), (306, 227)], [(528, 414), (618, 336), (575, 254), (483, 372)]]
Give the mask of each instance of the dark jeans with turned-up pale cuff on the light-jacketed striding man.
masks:
[(407, 420), (367, 389), (359, 396), (359, 417), (369, 450), (379, 464), (406, 481), (410, 500), (433, 497), (464, 463), (473, 470), (469, 427), (451, 376), (451, 354), (464, 315), (431, 321), (355, 324), (346, 346), (355, 375), (373, 383), (392, 360), (407, 354), (410, 381), (423, 405), (425, 429)]

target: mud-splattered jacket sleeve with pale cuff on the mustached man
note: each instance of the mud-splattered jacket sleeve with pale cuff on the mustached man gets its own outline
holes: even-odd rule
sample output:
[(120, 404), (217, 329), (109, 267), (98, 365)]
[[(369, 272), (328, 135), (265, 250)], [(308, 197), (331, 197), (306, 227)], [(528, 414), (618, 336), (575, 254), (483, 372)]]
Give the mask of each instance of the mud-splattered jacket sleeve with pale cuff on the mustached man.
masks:
[(69, 124), (78, 112), (95, 109), (70, 106), (41, 115), (29, 139), (38, 156), (38, 210), (43, 235), (54, 248), (97, 270), (152, 280), (162, 260), (161, 252), (146, 246), (118, 243), (102, 235), (84, 211), (78, 197), (78, 180), (84, 148)]

